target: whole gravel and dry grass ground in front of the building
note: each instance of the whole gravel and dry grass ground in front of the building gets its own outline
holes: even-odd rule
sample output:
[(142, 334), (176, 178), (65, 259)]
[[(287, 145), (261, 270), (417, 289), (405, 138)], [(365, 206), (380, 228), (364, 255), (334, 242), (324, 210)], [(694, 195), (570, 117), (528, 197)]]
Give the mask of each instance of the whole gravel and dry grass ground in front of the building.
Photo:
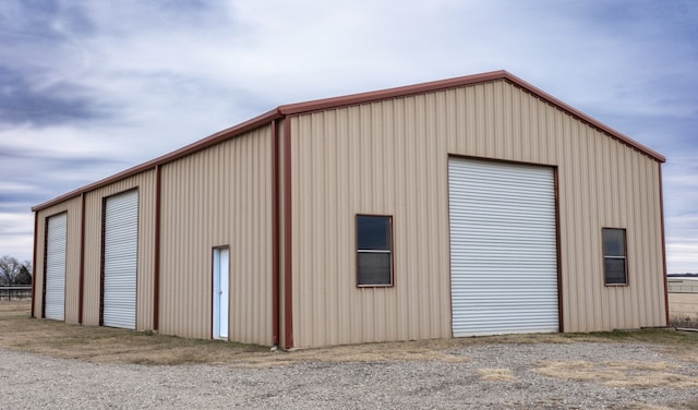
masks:
[(288, 352), (31, 318), (28, 301), (0, 301), (0, 359), (1, 408), (698, 410), (698, 333), (673, 329)]

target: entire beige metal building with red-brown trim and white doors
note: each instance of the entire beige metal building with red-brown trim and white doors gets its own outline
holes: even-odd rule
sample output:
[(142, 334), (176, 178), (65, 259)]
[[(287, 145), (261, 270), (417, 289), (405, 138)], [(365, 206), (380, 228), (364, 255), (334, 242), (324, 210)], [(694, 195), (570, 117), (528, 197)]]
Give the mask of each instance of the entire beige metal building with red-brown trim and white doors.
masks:
[(34, 207), (32, 314), (286, 348), (665, 326), (664, 161), (505, 71), (280, 106)]

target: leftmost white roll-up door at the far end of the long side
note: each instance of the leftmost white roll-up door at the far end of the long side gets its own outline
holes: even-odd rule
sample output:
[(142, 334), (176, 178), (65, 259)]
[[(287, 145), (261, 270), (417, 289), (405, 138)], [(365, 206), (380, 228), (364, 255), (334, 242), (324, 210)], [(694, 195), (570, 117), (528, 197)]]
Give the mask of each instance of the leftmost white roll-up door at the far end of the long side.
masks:
[(44, 299), (44, 315), (47, 318), (64, 321), (68, 214), (64, 213), (48, 218), (46, 229), (46, 297)]

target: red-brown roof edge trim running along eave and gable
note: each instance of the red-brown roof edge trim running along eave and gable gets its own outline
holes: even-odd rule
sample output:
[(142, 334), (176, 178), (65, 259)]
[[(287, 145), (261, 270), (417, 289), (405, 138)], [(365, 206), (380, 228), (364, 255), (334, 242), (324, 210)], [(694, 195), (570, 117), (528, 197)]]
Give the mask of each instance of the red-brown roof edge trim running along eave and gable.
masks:
[(540, 88), (534, 87), (533, 85), (525, 82), (524, 80), (517, 77), (516, 75), (510, 74), (507, 71), (492, 71), (489, 73), (482, 73), (482, 74), (474, 74), (474, 75), (467, 75), (467, 76), (461, 76), (461, 77), (456, 77), (456, 79), (448, 79), (448, 80), (441, 80), (441, 81), (434, 81), (434, 82), (430, 82), (430, 83), (422, 83), (422, 84), (416, 84), (416, 85), (408, 85), (408, 86), (404, 86), (404, 87), (397, 87), (397, 88), (388, 88), (388, 89), (382, 89), (382, 91), (376, 91), (376, 92), (369, 92), (369, 93), (361, 93), (361, 94), (352, 94), (352, 95), (348, 95), (348, 96), (342, 96), (342, 97), (334, 97), (334, 98), (325, 98), (325, 99), (318, 99), (318, 100), (313, 100), (313, 101), (306, 101), (306, 102), (298, 102), (298, 104), (290, 104), (290, 105), (285, 105), (285, 106), (280, 106), (272, 111), (268, 111), (262, 116), (255, 117), (251, 120), (248, 120), (245, 122), (242, 122), (238, 125), (231, 126), (229, 129), (222, 130), (220, 132), (217, 132), (208, 137), (205, 137), (203, 140), (200, 140), (193, 144), (186, 145), (180, 149), (177, 149), (170, 154), (166, 154), (161, 157), (155, 158), (153, 160), (149, 160), (147, 162), (141, 164), (139, 166), (135, 166), (133, 168), (127, 169), (125, 171), (119, 172), (117, 174), (113, 174), (111, 177), (108, 177), (106, 179), (103, 179), (100, 181), (97, 181), (95, 183), (92, 183), (89, 185), (83, 186), (81, 189), (77, 189), (75, 191), (71, 191), (67, 194), (63, 194), (61, 196), (58, 196), (51, 201), (45, 202), (43, 204), (36, 205), (32, 208), (32, 210), (37, 212), (37, 210), (41, 210), (45, 209), (51, 205), (56, 205), (60, 202), (63, 202), (65, 200), (70, 200), (73, 198), (75, 196), (79, 196), (82, 193), (85, 192), (89, 192), (89, 191), (94, 191), (96, 189), (99, 189), (101, 186), (108, 185), (115, 181), (124, 179), (124, 178), (129, 178), (132, 176), (135, 176), (137, 173), (147, 171), (149, 169), (153, 169), (159, 165), (164, 165), (170, 161), (173, 161), (176, 159), (182, 158), (186, 155), (193, 154), (195, 152), (198, 152), (201, 149), (204, 149), (206, 147), (209, 147), (212, 145), (215, 145), (219, 142), (222, 142), (225, 140), (234, 137), (237, 135), (240, 135), (244, 132), (251, 131), (253, 129), (256, 129), (258, 126), (262, 125), (266, 125), (269, 124), (270, 121), (286, 117), (286, 116), (294, 116), (294, 114), (302, 114), (305, 112), (312, 112), (312, 111), (321, 111), (321, 110), (326, 110), (326, 109), (333, 109), (333, 108), (339, 108), (339, 107), (346, 107), (346, 106), (352, 106), (352, 105), (359, 105), (359, 104), (368, 104), (368, 102), (372, 102), (372, 101), (378, 101), (378, 100), (383, 100), (383, 99), (390, 99), (390, 98), (400, 98), (400, 97), (406, 97), (406, 96), (410, 96), (410, 95), (416, 95), (416, 94), (422, 94), (422, 93), (430, 93), (430, 92), (435, 92), (435, 91), (441, 91), (441, 89), (447, 89), (447, 88), (456, 88), (456, 87), (461, 87), (461, 86), (466, 86), (466, 85), (472, 85), (472, 84), (478, 84), (478, 83), (484, 83), (484, 82), (489, 82), (489, 81), (497, 81), (497, 80), (504, 80), (507, 81), (512, 84), (514, 84), (515, 86), (518, 86), (520, 88), (522, 88), (524, 91), (530, 93), (531, 95), (546, 101), (547, 104), (555, 106), (557, 108), (559, 108), (561, 110), (567, 112), (568, 114), (579, 119), (582, 122), (588, 123), (589, 125), (600, 130), (601, 132), (610, 135), (611, 137), (614, 137), (618, 141), (621, 141), (622, 143), (650, 156), (651, 158), (658, 160), (659, 162), (665, 162), (666, 158), (653, 150), (652, 148), (649, 148), (640, 143), (638, 143), (637, 141), (630, 138), (627, 135), (624, 135), (623, 133), (615, 131), (614, 129), (612, 129), (611, 126), (594, 120), (593, 118), (587, 116), (586, 113), (577, 110), (576, 108), (561, 101), (559, 99), (553, 97), (552, 95), (541, 91)]

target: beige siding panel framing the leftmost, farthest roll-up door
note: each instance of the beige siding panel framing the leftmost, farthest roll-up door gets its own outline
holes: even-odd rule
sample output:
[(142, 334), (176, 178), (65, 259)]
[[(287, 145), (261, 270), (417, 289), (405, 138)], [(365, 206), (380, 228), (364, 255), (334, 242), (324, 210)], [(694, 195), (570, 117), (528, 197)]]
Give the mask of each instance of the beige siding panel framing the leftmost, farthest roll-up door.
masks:
[(68, 214), (68, 238), (65, 246), (65, 323), (76, 324), (79, 321), (79, 291), (80, 291), (80, 229), (82, 202), (80, 196), (53, 205), (38, 212), (36, 266), (34, 268), (35, 299), (34, 314), (41, 317), (41, 304), (44, 303), (44, 252), (46, 250), (46, 219), (50, 216)]

